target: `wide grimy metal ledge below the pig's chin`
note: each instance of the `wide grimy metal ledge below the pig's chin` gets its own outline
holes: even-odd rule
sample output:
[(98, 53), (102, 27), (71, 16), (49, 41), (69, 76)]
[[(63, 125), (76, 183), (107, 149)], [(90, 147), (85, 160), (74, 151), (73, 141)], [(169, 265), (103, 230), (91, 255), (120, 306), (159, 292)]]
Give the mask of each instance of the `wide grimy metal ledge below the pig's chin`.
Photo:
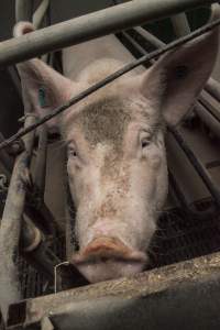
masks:
[(219, 274), (219, 253), (201, 256), (130, 278), (20, 301), (10, 308), (7, 326), (41, 329), (48, 316), (54, 329), (66, 330), (218, 330)]

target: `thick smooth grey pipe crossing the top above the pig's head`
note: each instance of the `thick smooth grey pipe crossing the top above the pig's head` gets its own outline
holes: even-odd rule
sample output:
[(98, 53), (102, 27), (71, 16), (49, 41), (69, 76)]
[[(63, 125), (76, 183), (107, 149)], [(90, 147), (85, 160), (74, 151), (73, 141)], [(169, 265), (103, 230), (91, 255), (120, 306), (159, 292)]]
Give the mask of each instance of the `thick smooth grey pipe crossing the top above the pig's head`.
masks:
[(0, 66), (114, 33), (217, 0), (129, 1), (0, 44)]

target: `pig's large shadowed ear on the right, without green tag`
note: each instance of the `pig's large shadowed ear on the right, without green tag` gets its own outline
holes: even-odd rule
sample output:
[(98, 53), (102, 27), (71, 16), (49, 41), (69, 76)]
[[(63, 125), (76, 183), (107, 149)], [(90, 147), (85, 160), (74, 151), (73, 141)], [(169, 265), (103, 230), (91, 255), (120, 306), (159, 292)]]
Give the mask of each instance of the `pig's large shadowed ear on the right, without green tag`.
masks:
[(141, 91), (156, 102), (169, 125), (190, 109), (209, 78), (218, 53), (218, 29), (168, 52), (145, 74)]

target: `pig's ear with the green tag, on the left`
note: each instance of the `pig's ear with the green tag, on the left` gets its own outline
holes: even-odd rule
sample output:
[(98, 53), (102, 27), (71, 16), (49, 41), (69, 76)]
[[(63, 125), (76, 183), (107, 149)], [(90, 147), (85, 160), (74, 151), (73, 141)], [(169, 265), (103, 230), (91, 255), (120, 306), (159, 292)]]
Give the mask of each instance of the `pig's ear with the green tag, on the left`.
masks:
[[(32, 32), (33, 25), (20, 22), (14, 28), (18, 37)], [(21, 77), (24, 112), (35, 112), (40, 117), (48, 114), (53, 109), (64, 103), (73, 81), (65, 78), (41, 59), (34, 58), (16, 65)], [(47, 122), (51, 131), (57, 130), (57, 118)]]

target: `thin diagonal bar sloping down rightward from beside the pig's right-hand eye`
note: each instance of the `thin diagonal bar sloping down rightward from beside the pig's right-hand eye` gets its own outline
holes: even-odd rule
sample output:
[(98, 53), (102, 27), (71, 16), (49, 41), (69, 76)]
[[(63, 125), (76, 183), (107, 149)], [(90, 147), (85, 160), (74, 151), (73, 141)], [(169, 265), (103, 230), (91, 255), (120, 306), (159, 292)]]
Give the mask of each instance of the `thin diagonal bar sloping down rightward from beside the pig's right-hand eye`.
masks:
[(193, 166), (196, 168), (197, 173), (199, 174), (200, 178), (205, 183), (206, 187), (208, 188), (209, 193), (211, 196), (215, 198), (217, 205), (220, 207), (220, 190), (217, 187), (217, 185), (213, 183), (210, 174), (208, 170), (205, 168), (205, 166), (200, 163), (200, 161), (196, 157), (194, 154), (193, 150), (188, 146), (186, 141), (182, 138), (180, 133), (174, 129), (174, 128), (168, 128), (168, 130), (173, 133), (175, 140), (178, 142), (179, 146), (193, 164)]

